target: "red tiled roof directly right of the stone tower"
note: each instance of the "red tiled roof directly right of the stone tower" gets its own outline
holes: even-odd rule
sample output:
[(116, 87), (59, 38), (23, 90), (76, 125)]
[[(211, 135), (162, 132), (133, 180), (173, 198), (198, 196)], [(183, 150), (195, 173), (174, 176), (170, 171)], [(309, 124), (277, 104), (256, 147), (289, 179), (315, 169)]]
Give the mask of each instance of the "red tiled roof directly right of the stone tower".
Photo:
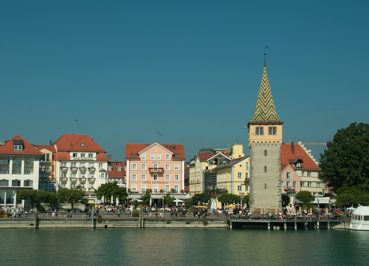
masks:
[[(306, 151), (298, 144), (294, 144), (294, 153), (291, 151), (291, 144), (282, 143), (280, 146), (280, 161), (283, 165), (291, 165), (291, 167), (295, 169), (293, 164), (290, 164), (291, 161), (296, 161), (296, 159), (300, 157), (303, 162), (301, 163), (302, 170), (311, 170), (311, 171), (320, 171), (320, 167), (310, 158), (310, 156), (306, 153)], [(286, 168), (286, 167), (284, 167)], [(282, 170), (284, 169), (282, 167)]]

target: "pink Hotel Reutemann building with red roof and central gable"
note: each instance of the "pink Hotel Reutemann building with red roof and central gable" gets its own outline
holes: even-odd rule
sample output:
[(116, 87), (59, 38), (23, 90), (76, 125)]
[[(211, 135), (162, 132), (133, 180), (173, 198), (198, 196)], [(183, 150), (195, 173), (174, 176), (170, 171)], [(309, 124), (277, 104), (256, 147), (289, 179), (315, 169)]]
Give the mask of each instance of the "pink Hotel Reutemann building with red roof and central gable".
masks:
[[(173, 193), (177, 199), (184, 198), (183, 144), (125, 144), (127, 163), (128, 199), (138, 199), (146, 189), (152, 190), (153, 199), (161, 199), (162, 193)], [(160, 200), (155, 200), (160, 202)]]

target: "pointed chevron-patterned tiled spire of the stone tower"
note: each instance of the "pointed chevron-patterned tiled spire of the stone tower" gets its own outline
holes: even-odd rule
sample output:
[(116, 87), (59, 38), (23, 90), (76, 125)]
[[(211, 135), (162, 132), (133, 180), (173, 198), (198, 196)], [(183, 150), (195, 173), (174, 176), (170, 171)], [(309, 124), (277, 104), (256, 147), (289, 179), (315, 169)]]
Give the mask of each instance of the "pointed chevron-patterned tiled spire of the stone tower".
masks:
[(277, 115), (272, 91), (270, 90), (268, 74), (266, 74), (265, 55), (266, 54), (264, 53), (264, 70), (258, 99), (256, 100), (254, 116), (249, 123), (283, 123)]

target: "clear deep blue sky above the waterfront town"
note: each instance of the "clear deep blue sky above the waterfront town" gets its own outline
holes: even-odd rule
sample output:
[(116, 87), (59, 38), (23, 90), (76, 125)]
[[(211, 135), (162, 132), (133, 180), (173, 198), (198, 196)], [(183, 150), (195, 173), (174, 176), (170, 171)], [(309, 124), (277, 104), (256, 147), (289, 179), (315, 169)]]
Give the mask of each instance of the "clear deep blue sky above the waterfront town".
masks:
[[(247, 147), (264, 55), (283, 140), (369, 123), (368, 1), (1, 1), (0, 141)], [(268, 49), (264, 46), (268, 45)], [(163, 134), (156, 135), (155, 128)], [(310, 146), (318, 157), (323, 146)]]

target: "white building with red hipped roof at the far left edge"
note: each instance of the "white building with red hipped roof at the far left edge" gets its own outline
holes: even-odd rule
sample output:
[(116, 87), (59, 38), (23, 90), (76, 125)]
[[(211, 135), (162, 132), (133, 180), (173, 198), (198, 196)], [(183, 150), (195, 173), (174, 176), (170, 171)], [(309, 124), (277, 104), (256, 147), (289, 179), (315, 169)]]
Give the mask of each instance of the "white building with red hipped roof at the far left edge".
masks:
[(44, 153), (17, 135), (0, 146), (0, 207), (23, 208), (21, 189), (38, 189), (39, 161)]

